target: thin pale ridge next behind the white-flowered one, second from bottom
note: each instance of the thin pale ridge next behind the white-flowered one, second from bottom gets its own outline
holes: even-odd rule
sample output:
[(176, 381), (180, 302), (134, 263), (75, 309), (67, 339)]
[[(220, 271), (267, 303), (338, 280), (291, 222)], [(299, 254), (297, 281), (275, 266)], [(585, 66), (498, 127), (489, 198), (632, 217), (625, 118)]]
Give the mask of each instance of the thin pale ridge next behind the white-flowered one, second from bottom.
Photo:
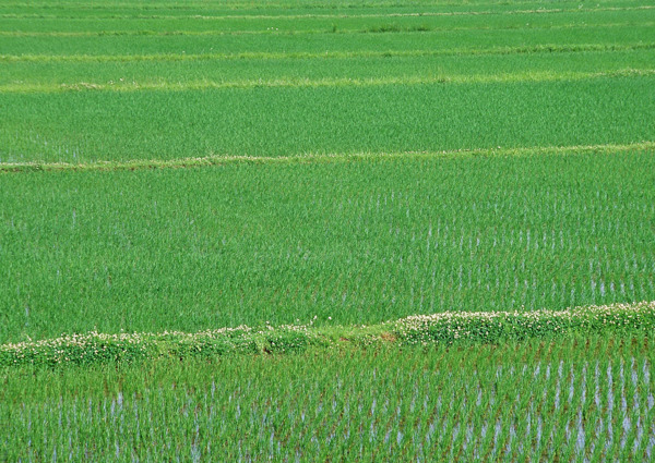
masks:
[(11, 172), (57, 172), (57, 171), (124, 171), (144, 169), (184, 169), (207, 166), (227, 165), (287, 165), (287, 163), (322, 163), (344, 161), (366, 161), (384, 159), (430, 159), (458, 156), (536, 156), (536, 155), (575, 155), (584, 153), (629, 153), (634, 150), (655, 149), (655, 141), (623, 145), (576, 145), (547, 146), (527, 148), (492, 148), (492, 149), (456, 149), (443, 151), (398, 151), (398, 153), (355, 153), (355, 154), (303, 154), (298, 156), (230, 156), (210, 155), (200, 158), (181, 159), (134, 159), (128, 161), (97, 161), (88, 163), (68, 162), (5, 162), (0, 163), (0, 173)]

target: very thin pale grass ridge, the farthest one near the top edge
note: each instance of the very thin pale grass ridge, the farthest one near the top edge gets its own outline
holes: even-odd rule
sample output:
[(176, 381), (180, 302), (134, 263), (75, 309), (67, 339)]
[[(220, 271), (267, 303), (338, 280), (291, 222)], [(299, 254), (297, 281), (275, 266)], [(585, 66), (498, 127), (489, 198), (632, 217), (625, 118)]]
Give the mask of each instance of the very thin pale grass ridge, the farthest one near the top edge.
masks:
[(510, 10), (510, 11), (444, 11), (444, 12), (416, 12), (416, 13), (362, 13), (362, 14), (330, 14), (330, 13), (307, 13), (307, 14), (225, 14), (225, 15), (204, 15), (204, 14), (107, 14), (95, 16), (75, 16), (75, 15), (57, 15), (57, 14), (39, 14), (39, 13), (4, 13), (0, 14), (0, 19), (40, 19), (40, 20), (75, 20), (75, 19), (107, 19), (107, 20), (330, 20), (330, 19), (384, 19), (384, 17), (429, 17), (429, 16), (507, 16), (517, 14), (552, 14), (552, 13), (593, 13), (607, 11), (641, 11), (653, 10), (655, 5), (639, 5), (639, 7), (598, 7), (598, 8), (553, 8), (553, 9), (537, 9), (537, 10)]

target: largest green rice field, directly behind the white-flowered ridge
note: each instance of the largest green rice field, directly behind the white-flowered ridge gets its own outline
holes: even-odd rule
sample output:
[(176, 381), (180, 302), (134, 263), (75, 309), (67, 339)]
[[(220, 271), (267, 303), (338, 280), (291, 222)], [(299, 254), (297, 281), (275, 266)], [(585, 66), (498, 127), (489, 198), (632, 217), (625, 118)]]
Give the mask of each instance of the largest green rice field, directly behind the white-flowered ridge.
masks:
[(0, 175), (0, 342), (655, 300), (654, 160), (592, 150)]

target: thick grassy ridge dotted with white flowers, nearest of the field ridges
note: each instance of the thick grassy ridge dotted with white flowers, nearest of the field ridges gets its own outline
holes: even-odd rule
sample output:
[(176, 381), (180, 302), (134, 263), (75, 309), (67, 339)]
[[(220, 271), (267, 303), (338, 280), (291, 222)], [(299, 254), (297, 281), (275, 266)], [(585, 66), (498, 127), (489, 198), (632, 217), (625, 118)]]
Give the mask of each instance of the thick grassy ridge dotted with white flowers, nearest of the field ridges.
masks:
[(445, 312), (416, 315), (371, 326), (240, 326), (195, 333), (106, 334), (90, 332), (0, 345), (0, 367), (90, 365), (160, 357), (216, 357), (285, 354), (310, 348), (396, 343), (450, 345), (497, 343), (573, 334), (655, 332), (655, 301), (564, 310)]

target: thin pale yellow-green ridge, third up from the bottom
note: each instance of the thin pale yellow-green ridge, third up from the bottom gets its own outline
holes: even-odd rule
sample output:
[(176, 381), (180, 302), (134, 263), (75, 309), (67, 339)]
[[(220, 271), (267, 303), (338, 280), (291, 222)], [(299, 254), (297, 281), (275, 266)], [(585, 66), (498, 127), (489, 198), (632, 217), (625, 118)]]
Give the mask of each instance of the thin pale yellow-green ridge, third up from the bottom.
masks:
[(321, 87), (377, 87), (392, 85), (434, 85), (434, 84), (500, 84), (522, 82), (574, 82), (594, 78), (616, 78), (653, 76), (655, 69), (621, 69), (598, 72), (524, 72), (478, 75), (433, 75), (416, 77), (380, 77), (380, 78), (281, 78), (281, 80), (245, 80), (245, 81), (196, 81), (168, 83), (115, 82), (99, 84), (79, 82), (73, 84), (0, 84), (0, 94), (52, 94), (64, 92), (187, 92), (212, 89), (250, 89), (250, 88), (321, 88)]

